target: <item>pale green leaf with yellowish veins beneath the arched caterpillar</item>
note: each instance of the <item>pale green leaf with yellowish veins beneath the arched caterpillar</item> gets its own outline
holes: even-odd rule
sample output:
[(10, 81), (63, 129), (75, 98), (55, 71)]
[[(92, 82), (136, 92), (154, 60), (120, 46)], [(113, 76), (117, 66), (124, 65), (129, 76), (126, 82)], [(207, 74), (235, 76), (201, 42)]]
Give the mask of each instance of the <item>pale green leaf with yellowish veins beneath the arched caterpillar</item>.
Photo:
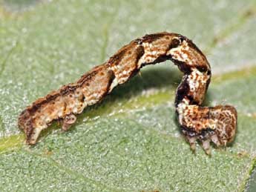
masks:
[[(0, 191), (243, 191), (256, 161), (255, 15), (254, 0), (0, 0)], [(191, 153), (173, 105), (182, 74), (171, 62), (143, 68), (67, 133), (55, 124), (24, 145), (24, 107), (164, 30), (206, 53), (206, 105), (237, 107), (231, 146)]]

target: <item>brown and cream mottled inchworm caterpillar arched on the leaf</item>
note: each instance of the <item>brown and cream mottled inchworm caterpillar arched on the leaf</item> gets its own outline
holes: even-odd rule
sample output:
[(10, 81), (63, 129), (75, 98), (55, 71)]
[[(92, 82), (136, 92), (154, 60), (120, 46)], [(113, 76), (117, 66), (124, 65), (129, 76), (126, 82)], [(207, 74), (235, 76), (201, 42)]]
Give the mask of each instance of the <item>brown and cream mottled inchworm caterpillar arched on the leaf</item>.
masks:
[(135, 39), (77, 82), (64, 85), (26, 107), (18, 125), (24, 130), (27, 145), (36, 144), (40, 132), (53, 121), (62, 122), (62, 130), (68, 130), (85, 107), (100, 102), (145, 65), (166, 60), (171, 60), (183, 73), (174, 105), (191, 150), (195, 150), (197, 141), (207, 154), (211, 152), (210, 142), (217, 147), (232, 142), (237, 128), (236, 109), (231, 105), (202, 106), (211, 81), (206, 56), (186, 36), (162, 32)]

